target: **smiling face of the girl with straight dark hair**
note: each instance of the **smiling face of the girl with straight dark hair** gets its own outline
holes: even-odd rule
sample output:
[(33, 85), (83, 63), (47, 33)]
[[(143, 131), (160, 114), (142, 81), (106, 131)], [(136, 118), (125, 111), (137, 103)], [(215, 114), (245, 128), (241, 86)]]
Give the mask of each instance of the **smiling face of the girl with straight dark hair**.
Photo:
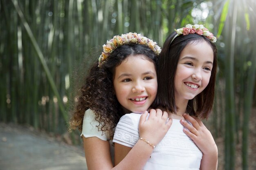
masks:
[(181, 52), (175, 74), (176, 102), (193, 99), (209, 83), (213, 50), (204, 40), (188, 44)]

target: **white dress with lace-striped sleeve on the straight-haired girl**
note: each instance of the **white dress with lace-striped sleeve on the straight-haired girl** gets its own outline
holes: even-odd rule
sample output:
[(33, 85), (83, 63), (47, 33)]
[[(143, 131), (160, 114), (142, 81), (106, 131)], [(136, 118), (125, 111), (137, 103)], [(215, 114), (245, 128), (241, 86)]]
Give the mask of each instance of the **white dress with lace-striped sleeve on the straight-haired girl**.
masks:
[[(130, 113), (121, 117), (113, 142), (133, 147), (139, 140), (141, 114)], [(180, 120), (173, 119), (171, 128), (154, 148), (144, 170), (199, 170), (202, 152), (183, 132)], [(148, 139), (149, 140), (149, 139)]]

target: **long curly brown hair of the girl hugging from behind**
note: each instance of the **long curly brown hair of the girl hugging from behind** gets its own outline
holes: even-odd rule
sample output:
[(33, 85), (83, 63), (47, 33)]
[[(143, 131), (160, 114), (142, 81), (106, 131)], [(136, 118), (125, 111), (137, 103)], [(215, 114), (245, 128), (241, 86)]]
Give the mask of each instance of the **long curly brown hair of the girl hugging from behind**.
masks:
[(78, 102), (70, 118), (69, 131), (78, 128), (82, 131), (83, 117), (87, 109), (94, 111), (95, 120), (99, 122), (98, 130), (113, 138), (115, 126), (124, 111), (115, 96), (113, 77), (115, 68), (129, 55), (144, 55), (146, 60), (157, 66), (156, 54), (147, 46), (129, 44), (117, 47), (107, 58), (106, 62), (98, 67), (95, 62), (89, 70), (88, 76), (79, 89)]

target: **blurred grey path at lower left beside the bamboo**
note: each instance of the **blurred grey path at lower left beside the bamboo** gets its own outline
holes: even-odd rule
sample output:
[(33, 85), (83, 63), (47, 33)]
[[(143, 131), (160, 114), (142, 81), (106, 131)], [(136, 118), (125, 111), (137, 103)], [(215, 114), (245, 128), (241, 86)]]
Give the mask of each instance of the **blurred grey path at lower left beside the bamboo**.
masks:
[(86, 170), (83, 148), (0, 123), (0, 170)]

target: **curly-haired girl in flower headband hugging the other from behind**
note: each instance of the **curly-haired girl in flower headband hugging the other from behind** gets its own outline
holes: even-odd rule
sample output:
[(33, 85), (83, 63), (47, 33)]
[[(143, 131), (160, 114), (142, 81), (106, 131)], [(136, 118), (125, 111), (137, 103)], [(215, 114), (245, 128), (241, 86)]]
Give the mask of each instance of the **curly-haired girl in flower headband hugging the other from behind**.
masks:
[[(148, 108), (157, 93), (157, 57), (161, 49), (152, 40), (137, 33), (115, 36), (103, 45), (99, 61), (89, 71), (80, 89), (70, 130), (78, 128), (88, 170), (141, 170), (153, 148), (137, 141), (128, 155), (113, 168), (112, 139), (120, 117), (140, 114), (139, 132), (154, 136), (158, 144), (171, 127), (167, 113)], [(167, 122), (167, 123), (166, 123)]]

